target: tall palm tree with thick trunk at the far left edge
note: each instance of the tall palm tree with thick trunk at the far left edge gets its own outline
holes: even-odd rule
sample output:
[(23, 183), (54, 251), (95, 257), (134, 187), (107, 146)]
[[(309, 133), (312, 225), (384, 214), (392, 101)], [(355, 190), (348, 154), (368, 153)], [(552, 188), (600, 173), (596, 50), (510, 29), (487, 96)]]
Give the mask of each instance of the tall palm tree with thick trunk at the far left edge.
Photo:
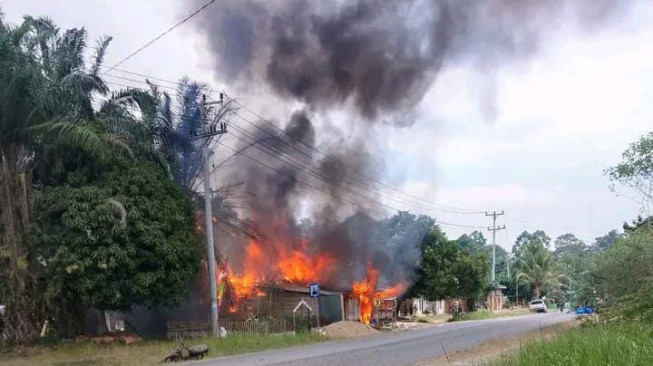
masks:
[(39, 161), (60, 164), (60, 147), (98, 155), (107, 142), (92, 97), (107, 92), (98, 70), (110, 39), (86, 69), (85, 38), (83, 29), (60, 34), (47, 18), (16, 27), (0, 15), (0, 296), (17, 341), (36, 337), (43, 320), (28, 233), (34, 169)]

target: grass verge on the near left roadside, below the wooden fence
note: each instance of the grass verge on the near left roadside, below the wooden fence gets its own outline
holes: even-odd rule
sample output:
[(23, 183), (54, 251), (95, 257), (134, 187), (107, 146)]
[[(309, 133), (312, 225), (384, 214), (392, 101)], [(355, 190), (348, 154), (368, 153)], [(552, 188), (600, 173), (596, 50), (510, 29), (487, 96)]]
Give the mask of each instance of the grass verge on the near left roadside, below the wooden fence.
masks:
[[(204, 343), (209, 346), (208, 357), (283, 348), (325, 341), (316, 334), (283, 334), (271, 336), (239, 336), (205, 338), (186, 342), (187, 345)], [(89, 341), (61, 343), (56, 346), (14, 350), (0, 353), (3, 366), (141, 366), (155, 365), (175, 349), (174, 341), (145, 340), (130, 345), (97, 345)]]

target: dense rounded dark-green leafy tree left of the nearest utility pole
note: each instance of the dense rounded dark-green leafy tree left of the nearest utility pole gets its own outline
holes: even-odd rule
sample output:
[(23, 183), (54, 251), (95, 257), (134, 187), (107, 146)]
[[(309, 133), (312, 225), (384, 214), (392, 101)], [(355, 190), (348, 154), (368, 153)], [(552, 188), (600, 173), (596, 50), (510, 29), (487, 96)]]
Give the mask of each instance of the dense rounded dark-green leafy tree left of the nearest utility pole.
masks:
[(67, 315), (89, 307), (177, 304), (199, 265), (186, 197), (160, 168), (117, 160), (92, 184), (37, 195), (45, 299), (67, 334)]

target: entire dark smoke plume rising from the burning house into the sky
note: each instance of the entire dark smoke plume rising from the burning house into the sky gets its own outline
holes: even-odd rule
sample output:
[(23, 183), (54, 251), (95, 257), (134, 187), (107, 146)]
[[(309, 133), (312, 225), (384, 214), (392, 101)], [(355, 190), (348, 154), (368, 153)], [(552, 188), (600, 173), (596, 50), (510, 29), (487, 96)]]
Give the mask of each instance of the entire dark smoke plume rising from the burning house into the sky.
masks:
[[(204, 2), (191, 1), (188, 9)], [(280, 250), (274, 243), (281, 242), (311, 255), (332, 254), (339, 259), (330, 278), (335, 286), (359, 280), (367, 263), (379, 268), (387, 283), (410, 280), (421, 231), (391, 238), (379, 228), (392, 223), (379, 225), (370, 210), (352, 207), (351, 201), (379, 199), (370, 192), (373, 183), (368, 181), (363, 192), (351, 177), (376, 176), (368, 145), (363, 136), (347, 136), (341, 141), (348, 143), (325, 146), (311, 115), (353, 106), (350, 123), (363, 130), (380, 121), (409, 125), (394, 117), (415, 107), (442, 69), (464, 64), (491, 74), (504, 64), (528, 61), (563, 25), (598, 30), (622, 13), (624, 3), (222, 0), (209, 7), (193, 24), (205, 36), (220, 81), (253, 89), (264, 85), (282, 100), (305, 106), (288, 118), (285, 134), (257, 130), (252, 132), (256, 146), (241, 143), (241, 150), (272, 170), (238, 159), (227, 177), (244, 182), (252, 197), (246, 215), (273, 243), (267, 246), (269, 255)], [(483, 89), (491, 94), (496, 88)], [(485, 109), (492, 114), (492, 105)], [(307, 203), (310, 224), (298, 222)], [(221, 250), (237, 259), (242, 247), (236, 240)]]

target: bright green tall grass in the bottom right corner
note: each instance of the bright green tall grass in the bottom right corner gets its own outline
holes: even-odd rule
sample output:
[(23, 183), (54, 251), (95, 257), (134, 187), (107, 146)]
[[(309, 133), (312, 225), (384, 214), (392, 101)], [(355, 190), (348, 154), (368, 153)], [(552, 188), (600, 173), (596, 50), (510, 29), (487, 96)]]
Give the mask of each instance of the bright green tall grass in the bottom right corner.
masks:
[(568, 330), (534, 342), (486, 366), (653, 365), (653, 325), (615, 323)]

